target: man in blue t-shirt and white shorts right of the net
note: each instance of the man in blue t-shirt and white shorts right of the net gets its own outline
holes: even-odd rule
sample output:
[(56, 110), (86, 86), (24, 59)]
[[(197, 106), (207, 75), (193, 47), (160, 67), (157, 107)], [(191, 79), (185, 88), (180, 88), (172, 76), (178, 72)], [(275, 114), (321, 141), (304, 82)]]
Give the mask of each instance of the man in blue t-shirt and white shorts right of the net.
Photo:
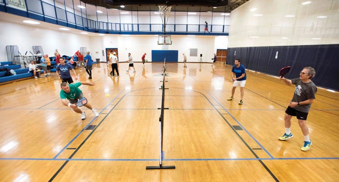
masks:
[(234, 100), (234, 92), (235, 88), (240, 85), (240, 102), (239, 105), (243, 104), (244, 98), (244, 87), (246, 84), (246, 72), (245, 67), (240, 64), (240, 59), (235, 59), (234, 66), (232, 67), (232, 81), (233, 81), (233, 88), (232, 88), (232, 96), (227, 98), (227, 100)]

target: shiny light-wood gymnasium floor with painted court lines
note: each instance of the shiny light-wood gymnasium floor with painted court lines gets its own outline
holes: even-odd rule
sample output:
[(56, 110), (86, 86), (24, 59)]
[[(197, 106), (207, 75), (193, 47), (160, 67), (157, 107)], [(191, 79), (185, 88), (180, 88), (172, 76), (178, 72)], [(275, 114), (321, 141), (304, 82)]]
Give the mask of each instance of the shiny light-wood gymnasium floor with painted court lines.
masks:
[(0, 85), (0, 182), (338, 182), (338, 92), (318, 89), (303, 152), (295, 117), (294, 137), (278, 140), (294, 87), (247, 70), (238, 105), (221, 63), (167, 63), (163, 165), (176, 168), (146, 170), (159, 164), (162, 66), (135, 63), (134, 74), (121, 63), (111, 77), (101, 63), (92, 80), (77, 69), (96, 84), (79, 87), (100, 113), (81, 108), (85, 120), (62, 105), (56, 76)]

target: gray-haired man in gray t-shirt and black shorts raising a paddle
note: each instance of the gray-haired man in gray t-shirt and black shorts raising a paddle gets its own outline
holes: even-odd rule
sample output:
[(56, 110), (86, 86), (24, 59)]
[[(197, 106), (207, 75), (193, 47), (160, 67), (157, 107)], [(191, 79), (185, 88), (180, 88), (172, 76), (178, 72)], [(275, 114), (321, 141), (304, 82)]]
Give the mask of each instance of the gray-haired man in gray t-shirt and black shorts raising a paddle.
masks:
[(285, 134), (282, 137), (279, 137), (279, 140), (287, 140), (293, 137), (291, 133), (291, 118), (292, 116), (296, 116), (305, 138), (304, 146), (301, 147), (301, 150), (308, 151), (309, 147), (312, 145), (312, 141), (309, 140), (306, 119), (311, 104), (315, 99), (315, 93), (317, 92), (317, 87), (311, 81), (315, 76), (315, 70), (311, 67), (305, 67), (300, 71), (299, 75), (299, 78), (294, 78), (292, 80), (280, 77), (280, 80), (283, 80), (287, 85), (295, 84), (295, 89), (289, 107), (285, 111)]

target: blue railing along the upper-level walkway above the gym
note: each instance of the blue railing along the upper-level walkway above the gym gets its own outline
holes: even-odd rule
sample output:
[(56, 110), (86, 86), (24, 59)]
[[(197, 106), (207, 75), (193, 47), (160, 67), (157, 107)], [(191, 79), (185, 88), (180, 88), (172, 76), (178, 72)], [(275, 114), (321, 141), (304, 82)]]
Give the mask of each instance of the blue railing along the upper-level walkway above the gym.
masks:
[[(75, 14), (42, 0), (26, 0), (26, 3), (27, 6), (18, 7), (13, 4), (6, 4), (4, 0), (0, 0), (0, 11), (90, 32), (109, 34), (162, 34), (164, 32), (162, 24), (128, 24), (95, 21), (84, 17), (82, 14)], [(205, 33), (204, 28), (205, 25), (199, 24), (167, 24), (166, 33), (173, 35), (228, 35), (230, 26), (208, 25), (210, 33)]]

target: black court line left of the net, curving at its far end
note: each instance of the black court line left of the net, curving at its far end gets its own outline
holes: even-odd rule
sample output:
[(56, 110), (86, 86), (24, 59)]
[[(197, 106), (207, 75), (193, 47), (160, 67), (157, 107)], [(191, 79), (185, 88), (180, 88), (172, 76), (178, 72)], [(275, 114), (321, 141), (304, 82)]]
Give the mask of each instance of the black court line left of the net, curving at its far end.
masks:
[[(142, 89), (139, 89), (139, 90), (143, 90), (143, 89), (149, 89), (149, 88), (142, 88)], [(135, 91), (139, 91), (139, 90), (134, 90), (132, 92), (135, 92)], [(130, 92), (129, 92), (130, 93)], [(120, 103), (120, 101), (127, 95), (128, 93), (126, 93), (125, 95), (123, 95), (122, 98), (120, 98), (120, 100), (117, 102), (116, 105), (118, 105)], [(92, 134), (94, 133), (94, 131), (105, 121), (105, 119), (107, 118), (107, 116), (109, 115), (109, 113), (111, 113), (114, 108), (116, 107), (116, 105), (109, 110), (108, 114), (106, 114), (106, 116), (104, 118), (101, 119), (101, 121), (99, 122), (99, 124), (94, 127), (94, 129), (91, 131), (91, 133), (81, 142), (81, 144), (77, 147), (77, 149), (68, 157), (68, 159), (72, 159), (73, 156), (75, 154), (77, 154), (77, 151), (79, 151), (79, 149), (85, 144), (85, 142), (92, 136)], [(108, 107), (108, 106), (107, 106)], [(70, 160), (67, 160), (65, 161), (62, 166), (54, 173), (54, 175), (51, 177), (51, 179), (48, 181), (48, 182), (52, 182), (55, 177), (61, 172), (61, 170), (67, 165), (67, 163), (69, 162)]]

